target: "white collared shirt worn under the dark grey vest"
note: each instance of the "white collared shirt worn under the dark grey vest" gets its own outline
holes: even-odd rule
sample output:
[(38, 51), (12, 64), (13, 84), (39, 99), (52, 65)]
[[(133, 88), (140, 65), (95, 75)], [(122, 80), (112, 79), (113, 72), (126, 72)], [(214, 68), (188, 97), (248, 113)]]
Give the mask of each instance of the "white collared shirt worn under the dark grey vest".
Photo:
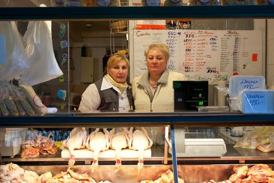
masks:
[[(128, 86), (128, 85), (127, 87), (131, 88), (131, 86)], [(113, 84), (110, 83), (107, 77), (104, 76), (102, 81), (101, 91), (109, 88), (113, 88), (115, 91), (118, 92), (119, 111), (131, 110), (130, 103), (127, 98), (128, 88), (125, 88), (123, 94), (121, 94), (120, 90), (116, 86), (113, 86)], [(90, 84), (85, 90), (85, 92), (82, 94), (82, 99), (81, 99), (78, 110), (80, 111), (97, 110), (100, 106), (100, 103), (101, 103), (101, 99), (100, 99), (100, 95), (97, 87), (95, 86), (95, 84)]]

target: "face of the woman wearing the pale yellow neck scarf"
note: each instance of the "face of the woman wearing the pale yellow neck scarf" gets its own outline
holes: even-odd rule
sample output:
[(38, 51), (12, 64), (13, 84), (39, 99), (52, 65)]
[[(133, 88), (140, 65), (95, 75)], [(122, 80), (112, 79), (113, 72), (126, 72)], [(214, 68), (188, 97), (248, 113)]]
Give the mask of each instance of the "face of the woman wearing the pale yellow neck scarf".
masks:
[(107, 68), (107, 73), (112, 77), (112, 79), (117, 83), (123, 83), (127, 80), (127, 62), (121, 60), (116, 65), (113, 65), (111, 68)]

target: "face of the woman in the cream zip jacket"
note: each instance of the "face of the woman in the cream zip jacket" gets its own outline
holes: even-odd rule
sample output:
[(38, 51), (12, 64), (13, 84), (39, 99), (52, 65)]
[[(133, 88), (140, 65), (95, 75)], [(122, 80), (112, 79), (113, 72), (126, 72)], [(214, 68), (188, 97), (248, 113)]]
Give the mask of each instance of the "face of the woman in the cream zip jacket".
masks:
[(165, 58), (164, 52), (160, 50), (150, 50), (147, 56), (147, 69), (151, 75), (162, 75), (168, 61)]

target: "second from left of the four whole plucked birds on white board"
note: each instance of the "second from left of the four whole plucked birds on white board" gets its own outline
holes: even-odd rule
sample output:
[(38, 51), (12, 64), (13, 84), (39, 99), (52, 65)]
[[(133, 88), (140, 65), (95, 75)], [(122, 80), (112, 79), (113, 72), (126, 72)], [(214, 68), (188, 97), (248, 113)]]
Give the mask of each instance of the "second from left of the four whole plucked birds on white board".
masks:
[(86, 146), (89, 150), (93, 151), (93, 163), (91, 165), (92, 172), (98, 167), (98, 155), (100, 151), (106, 151), (109, 148), (110, 134), (106, 128), (103, 132), (99, 132), (100, 128), (96, 128), (94, 132), (88, 136)]

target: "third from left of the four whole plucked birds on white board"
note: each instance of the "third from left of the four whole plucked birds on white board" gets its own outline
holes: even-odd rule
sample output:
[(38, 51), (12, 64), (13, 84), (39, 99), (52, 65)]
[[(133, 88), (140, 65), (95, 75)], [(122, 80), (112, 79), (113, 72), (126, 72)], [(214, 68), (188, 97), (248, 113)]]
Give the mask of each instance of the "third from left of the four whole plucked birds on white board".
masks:
[(119, 171), (122, 166), (121, 163), (121, 149), (126, 148), (128, 145), (129, 138), (127, 137), (126, 128), (113, 128), (110, 131), (110, 148), (114, 149), (116, 152), (116, 164), (115, 164), (115, 173)]

